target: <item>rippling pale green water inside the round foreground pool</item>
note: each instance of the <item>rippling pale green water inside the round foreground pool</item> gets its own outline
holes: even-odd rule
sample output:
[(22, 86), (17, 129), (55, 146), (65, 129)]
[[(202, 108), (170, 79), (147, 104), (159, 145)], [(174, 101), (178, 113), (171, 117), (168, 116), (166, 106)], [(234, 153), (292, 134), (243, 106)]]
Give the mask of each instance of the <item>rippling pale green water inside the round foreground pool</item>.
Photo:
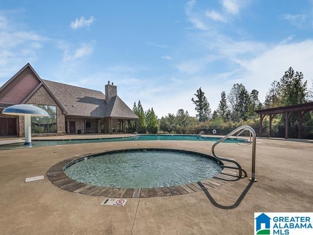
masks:
[(133, 151), (91, 157), (68, 166), (68, 177), (111, 188), (158, 188), (194, 183), (222, 171), (214, 159), (177, 151)]

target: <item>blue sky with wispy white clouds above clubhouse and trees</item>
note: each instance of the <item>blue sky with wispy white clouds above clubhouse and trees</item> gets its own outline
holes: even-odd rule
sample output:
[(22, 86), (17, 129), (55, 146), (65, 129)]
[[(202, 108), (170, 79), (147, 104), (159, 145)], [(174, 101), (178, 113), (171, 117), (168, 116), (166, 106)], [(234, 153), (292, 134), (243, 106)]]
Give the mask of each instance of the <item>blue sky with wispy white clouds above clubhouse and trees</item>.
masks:
[(47, 80), (104, 91), (132, 108), (195, 115), (243, 83), (260, 99), (293, 67), (313, 78), (312, 0), (0, 1), (0, 85), (27, 62)]

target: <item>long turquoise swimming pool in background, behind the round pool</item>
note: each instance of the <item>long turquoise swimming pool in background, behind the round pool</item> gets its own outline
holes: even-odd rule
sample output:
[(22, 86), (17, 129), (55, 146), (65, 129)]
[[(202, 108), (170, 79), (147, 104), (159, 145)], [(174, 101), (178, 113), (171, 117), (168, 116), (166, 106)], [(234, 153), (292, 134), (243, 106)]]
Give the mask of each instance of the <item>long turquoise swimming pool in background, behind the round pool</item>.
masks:
[[(32, 145), (11, 144), (0, 146), (0, 150), (17, 149), (17, 148), (33, 148), (43, 146), (54, 146), (75, 143), (98, 143), (98, 142), (115, 142), (115, 141), (218, 141), (218, 137), (203, 137), (200, 135), (137, 135), (130, 137), (114, 137), (114, 138), (97, 138), (97, 139), (76, 139), (76, 140), (33, 140)], [(224, 142), (246, 142), (244, 139), (228, 138)]]

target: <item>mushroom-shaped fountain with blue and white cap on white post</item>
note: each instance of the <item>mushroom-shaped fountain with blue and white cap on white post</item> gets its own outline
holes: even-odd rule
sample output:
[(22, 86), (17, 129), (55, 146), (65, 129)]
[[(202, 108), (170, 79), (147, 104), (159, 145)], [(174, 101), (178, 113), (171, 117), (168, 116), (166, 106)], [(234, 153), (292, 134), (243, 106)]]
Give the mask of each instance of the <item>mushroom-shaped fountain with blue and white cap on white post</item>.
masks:
[(2, 114), (24, 116), (24, 126), (25, 126), (25, 143), (24, 145), (31, 145), (31, 124), (30, 117), (48, 117), (48, 113), (34, 105), (30, 104), (17, 104), (5, 108)]

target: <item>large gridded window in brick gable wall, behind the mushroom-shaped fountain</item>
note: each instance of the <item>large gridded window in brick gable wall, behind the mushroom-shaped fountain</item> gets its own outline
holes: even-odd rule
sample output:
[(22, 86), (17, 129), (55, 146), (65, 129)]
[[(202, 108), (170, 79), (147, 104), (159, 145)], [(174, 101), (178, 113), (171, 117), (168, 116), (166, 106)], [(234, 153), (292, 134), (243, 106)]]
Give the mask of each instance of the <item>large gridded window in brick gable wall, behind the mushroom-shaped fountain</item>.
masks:
[(49, 117), (31, 117), (31, 133), (57, 133), (57, 107), (42, 104), (33, 105), (45, 110)]

